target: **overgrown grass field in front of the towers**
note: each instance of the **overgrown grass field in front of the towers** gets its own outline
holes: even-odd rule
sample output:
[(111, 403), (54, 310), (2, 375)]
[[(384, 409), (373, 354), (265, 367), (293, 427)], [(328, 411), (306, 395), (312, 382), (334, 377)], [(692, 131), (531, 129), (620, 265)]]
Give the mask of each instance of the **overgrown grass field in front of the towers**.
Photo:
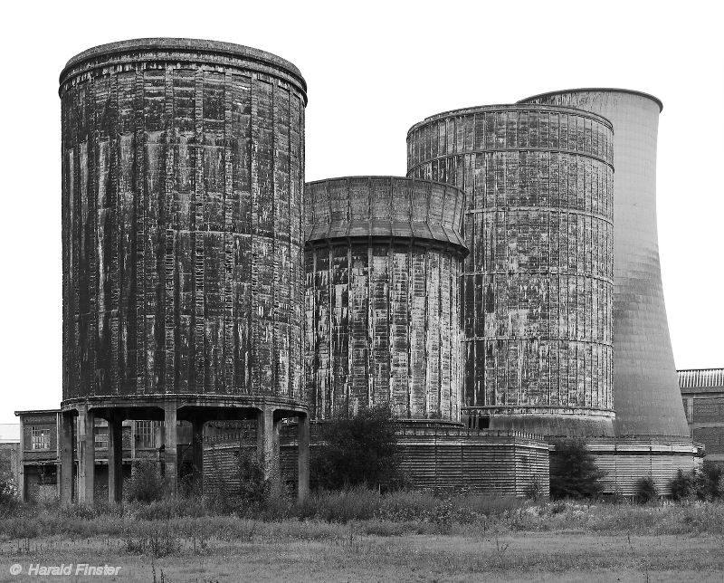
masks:
[(100, 579), (121, 581), (722, 581), (724, 504), (356, 488), (233, 515), (193, 499), (2, 511), (0, 581), (63, 562), (119, 566)]

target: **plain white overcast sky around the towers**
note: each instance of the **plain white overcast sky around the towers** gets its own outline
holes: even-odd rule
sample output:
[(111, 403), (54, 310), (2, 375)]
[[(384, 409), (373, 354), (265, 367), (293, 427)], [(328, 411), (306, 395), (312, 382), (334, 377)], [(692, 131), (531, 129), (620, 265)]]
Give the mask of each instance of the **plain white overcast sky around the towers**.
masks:
[(62, 398), (58, 75), (91, 46), (148, 36), (246, 44), (296, 64), (309, 85), (307, 180), (404, 176), (407, 129), (439, 111), (573, 87), (653, 93), (664, 105), (658, 223), (676, 366), (724, 367), (724, 33), (717, 4), (4, 5), (0, 423), (14, 423), (14, 410), (57, 407)]

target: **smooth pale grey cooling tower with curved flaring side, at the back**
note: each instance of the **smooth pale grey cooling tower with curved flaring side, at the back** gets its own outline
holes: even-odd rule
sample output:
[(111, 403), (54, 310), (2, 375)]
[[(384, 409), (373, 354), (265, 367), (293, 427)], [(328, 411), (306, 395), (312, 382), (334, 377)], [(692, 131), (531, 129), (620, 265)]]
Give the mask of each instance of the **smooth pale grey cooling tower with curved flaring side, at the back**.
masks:
[(656, 230), (656, 138), (662, 102), (619, 89), (555, 91), (523, 101), (593, 111), (614, 124), (616, 433), (686, 437)]

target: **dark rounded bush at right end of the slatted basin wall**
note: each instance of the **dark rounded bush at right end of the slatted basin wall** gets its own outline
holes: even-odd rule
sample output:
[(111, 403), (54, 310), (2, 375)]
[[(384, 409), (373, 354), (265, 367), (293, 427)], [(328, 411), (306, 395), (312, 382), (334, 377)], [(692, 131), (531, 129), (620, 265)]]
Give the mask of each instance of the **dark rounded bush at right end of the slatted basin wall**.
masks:
[(590, 498), (603, 490), (604, 472), (595, 466), (595, 458), (586, 443), (564, 439), (556, 443), (556, 459), (550, 468), (551, 498)]

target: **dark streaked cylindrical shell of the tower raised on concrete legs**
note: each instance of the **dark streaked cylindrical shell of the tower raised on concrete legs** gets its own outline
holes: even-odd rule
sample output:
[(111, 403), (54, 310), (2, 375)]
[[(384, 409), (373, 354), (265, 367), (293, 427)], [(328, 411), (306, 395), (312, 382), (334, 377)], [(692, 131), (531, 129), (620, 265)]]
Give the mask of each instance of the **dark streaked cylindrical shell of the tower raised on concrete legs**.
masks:
[(61, 74), (63, 399), (301, 400), (306, 83), (140, 39)]

